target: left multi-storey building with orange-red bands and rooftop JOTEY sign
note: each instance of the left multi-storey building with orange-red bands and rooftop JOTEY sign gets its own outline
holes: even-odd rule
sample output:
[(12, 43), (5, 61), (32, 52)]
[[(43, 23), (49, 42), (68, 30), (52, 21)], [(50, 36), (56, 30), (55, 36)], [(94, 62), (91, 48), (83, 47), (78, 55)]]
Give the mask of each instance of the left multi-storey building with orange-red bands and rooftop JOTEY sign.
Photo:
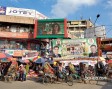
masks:
[(0, 7), (0, 49), (37, 50), (42, 40), (34, 38), (35, 19), (46, 18), (35, 10)]

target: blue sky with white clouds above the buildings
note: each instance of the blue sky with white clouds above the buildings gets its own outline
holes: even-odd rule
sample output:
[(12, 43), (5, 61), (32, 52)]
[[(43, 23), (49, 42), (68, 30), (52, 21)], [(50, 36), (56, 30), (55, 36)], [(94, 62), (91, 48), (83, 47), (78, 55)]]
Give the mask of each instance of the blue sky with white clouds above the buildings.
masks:
[(0, 6), (34, 9), (49, 18), (89, 20), (96, 26), (105, 25), (106, 35), (112, 37), (112, 0), (0, 0)]

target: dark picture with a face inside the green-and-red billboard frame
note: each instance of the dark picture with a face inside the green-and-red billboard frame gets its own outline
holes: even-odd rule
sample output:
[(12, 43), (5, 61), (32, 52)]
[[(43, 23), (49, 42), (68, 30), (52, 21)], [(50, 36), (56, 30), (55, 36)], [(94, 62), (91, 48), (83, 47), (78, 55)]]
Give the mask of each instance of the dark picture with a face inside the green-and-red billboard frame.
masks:
[(63, 22), (39, 22), (38, 35), (58, 35), (64, 34)]

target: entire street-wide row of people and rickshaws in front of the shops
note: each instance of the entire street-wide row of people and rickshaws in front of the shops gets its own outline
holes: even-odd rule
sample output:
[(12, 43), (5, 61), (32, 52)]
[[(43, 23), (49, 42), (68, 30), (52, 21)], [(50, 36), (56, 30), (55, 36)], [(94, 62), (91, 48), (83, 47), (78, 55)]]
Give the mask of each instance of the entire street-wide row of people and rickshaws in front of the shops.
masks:
[[(44, 74), (52, 74), (56, 76), (57, 81), (63, 77), (64, 72), (74, 74), (80, 79), (84, 79), (89, 76), (106, 76), (109, 73), (109, 70), (112, 70), (112, 65), (106, 64), (102, 61), (99, 61), (95, 66), (87, 65), (80, 63), (79, 65), (73, 65), (71, 62), (65, 66), (62, 62), (54, 62), (52, 64), (49, 61), (45, 63), (36, 64), (33, 62), (30, 63), (20, 63), (18, 65), (12, 65), (12, 62), (0, 63), (0, 79), (6, 80), (8, 77), (11, 77), (13, 80), (17, 81), (26, 81), (27, 75), (30, 70), (35, 71), (37, 76), (44, 76)], [(108, 74), (109, 78), (112, 78), (112, 72)]]

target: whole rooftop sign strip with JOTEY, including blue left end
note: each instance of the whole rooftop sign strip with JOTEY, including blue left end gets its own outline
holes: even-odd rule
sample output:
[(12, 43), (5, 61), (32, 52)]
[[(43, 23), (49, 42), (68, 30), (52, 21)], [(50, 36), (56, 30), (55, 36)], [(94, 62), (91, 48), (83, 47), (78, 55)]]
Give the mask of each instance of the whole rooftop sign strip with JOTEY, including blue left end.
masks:
[(12, 16), (32, 17), (37, 19), (47, 19), (47, 16), (36, 10), (15, 8), (15, 7), (0, 6), (0, 15), (12, 15)]

